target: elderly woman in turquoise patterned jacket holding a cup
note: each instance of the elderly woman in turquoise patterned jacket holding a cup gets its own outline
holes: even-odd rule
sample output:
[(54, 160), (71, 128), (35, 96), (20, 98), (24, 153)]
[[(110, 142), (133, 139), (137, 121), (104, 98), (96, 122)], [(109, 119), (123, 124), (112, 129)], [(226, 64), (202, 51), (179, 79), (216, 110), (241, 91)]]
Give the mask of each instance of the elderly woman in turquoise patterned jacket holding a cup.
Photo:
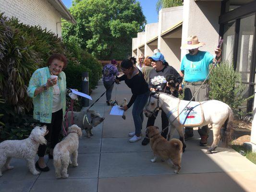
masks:
[[(59, 142), (63, 115), (66, 109), (66, 75), (62, 70), (67, 65), (67, 59), (62, 54), (53, 54), (48, 62), (48, 67), (37, 69), (27, 89), (28, 96), (33, 98), (34, 119), (41, 124), (46, 124), (49, 133), (45, 136), (50, 142), (49, 158), (52, 158), (54, 146)], [(49, 171), (44, 161), (46, 145), (39, 145), (36, 168)]]

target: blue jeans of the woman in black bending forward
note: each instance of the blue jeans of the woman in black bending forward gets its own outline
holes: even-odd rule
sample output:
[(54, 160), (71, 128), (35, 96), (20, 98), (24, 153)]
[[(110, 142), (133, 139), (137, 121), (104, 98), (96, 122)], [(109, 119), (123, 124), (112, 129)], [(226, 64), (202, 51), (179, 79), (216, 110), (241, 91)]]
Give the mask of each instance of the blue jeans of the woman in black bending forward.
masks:
[(141, 134), (141, 129), (142, 129), (142, 123), (144, 119), (143, 115), (143, 109), (146, 105), (148, 96), (149, 96), (149, 91), (137, 95), (135, 101), (134, 101), (134, 107), (133, 107), (133, 118), (134, 118), (134, 125), (135, 125), (135, 134), (140, 135)]

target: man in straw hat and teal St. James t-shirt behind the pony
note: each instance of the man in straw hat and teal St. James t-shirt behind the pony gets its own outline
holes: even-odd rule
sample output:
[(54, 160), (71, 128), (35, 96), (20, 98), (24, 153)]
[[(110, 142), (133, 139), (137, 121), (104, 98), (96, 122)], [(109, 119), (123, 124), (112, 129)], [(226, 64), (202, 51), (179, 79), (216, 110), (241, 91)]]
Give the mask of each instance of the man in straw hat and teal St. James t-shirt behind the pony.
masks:
[[(190, 101), (195, 95), (195, 92), (200, 88), (203, 81), (207, 78), (209, 73), (209, 65), (216, 60), (220, 60), (221, 49), (216, 48), (216, 57), (209, 52), (198, 50), (199, 47), (204, 46), (205, 43), (198, 42), (197, 36), (189, 36), (186, 44), (182, 45), (181, 49), (187, 49), (189, 54), (183, 57), (181, 63), (180, 75), (185, 81), (184, 100)], [(179, 91), (182, 91), (180, 84)], [(208, 82), (202, 85), (201, 89), (196, 93), (194, 101), (206, 101), (209, 96)], [(198, 127), (198, 133), (201, 136), (200, 145), (207, 145), (208, 126)], [(185, 140), (193, 137), (193, 128), (185, 128)]]

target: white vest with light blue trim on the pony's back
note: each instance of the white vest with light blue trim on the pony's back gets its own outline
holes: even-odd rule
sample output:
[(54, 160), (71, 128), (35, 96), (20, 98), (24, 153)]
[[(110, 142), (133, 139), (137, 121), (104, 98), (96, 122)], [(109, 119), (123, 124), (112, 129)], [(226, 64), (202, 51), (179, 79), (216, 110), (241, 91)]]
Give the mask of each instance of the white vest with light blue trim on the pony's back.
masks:
[[(179, 122), (184, 126), (197, 126), (203, 122), (203, 110), (200, 102), (180, 100), (178, 104)], [(186, 106), (188, 104), (188, 106)]]

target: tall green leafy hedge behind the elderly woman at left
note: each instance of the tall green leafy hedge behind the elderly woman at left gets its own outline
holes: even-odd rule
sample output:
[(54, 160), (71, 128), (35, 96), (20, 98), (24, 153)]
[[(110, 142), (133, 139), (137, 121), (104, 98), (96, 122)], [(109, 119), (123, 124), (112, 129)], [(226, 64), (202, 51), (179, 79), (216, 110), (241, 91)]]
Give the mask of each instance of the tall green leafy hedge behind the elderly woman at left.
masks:
[[(40, 26), (7, 19), (0, 13), (0, 95), (6, 104), (0, 104), (1, 139), (23, 139), (33, 128), (32, 99), (26, 94), (29, 80), (38, 68), (45, 67), (53, 53), (66, 55), (67, 86), (81, 91), (81, 72), (89, 72), (89, 85), (98, 82), (101, 66), (85, 52), (75, 38), (63, 42), (54, 33)], [(79, 81), (78, 81), (79, 80)], [(1, 100), (0, 100), (1, 102)], [(79, 104), (76, 105), (79, 107)], [(7, 107), (8, 106), (8, 107)], [(30, 123), (31, 122), (31, 123)]]

